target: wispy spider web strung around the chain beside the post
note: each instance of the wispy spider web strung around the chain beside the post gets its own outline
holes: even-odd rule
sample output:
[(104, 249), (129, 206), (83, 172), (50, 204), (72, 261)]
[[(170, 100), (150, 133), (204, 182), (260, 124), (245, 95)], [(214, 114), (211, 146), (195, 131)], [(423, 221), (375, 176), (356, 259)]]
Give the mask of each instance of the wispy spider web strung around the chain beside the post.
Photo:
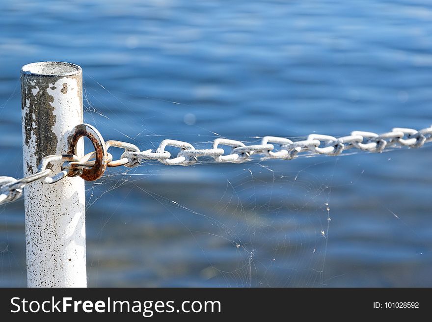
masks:
[[(118, 106), (130, 111), (139, 106), (116, 99), (97, 84), (91, 93), (84, 90), (85, 118), (102, 129), (106, 140), (124, 140), (144, 150), (157, 148), (164, 138), (186, 140), (196, 148), (205, 148), (221, 137), (193, 125), (194, 131), (186, 134), (175, 130), (162, 134), (152, 127), (161, 111), (146, 104), (141, 108), (156, 116), (134, 120), (133, 112), (113, 111), (101, 98), (108, 94)], [(149, 105), (154, 101), (148, 98)], [(162, 102), (175, 105), (177, 111), (183, 109), (179, 114), (185, 114), (185, 123), (190, 123), (187, 118), (193, 114), (187, 112), (188, 105)], [(162, 117), (168, 124), (175, 123), (176, 116)], [(136, 131), (137, 123), (140, 131)], [(110, 129), (108, 135), (104, 129)], [(236, 139), (251, 144), (258, 140)], [(175, 149), (170, 152), (176, 154)], [(337, 158), (309, 158), (295, 170), (290, 170), (287, 161), (256, 159), (242, 164), (200, 160), (188, 167), (145, 161), (133, 169), (109, 169), (87, 187), (87, 218), (100, 214), (95, 245), (87, 246), (93, 249), (90, 282), (107, 283), (112, 276), (101, 266), (111, 263), (117, 267), (112, 259), (118, 259), (118, 255), (112, 253), (121, 253), (127, 270), (144, 276), (143, 285), (325, 285), (334, 172), (323, 175), (317, 169), (328, 162), (336, 165)], [(87, 230), (89, 225), (87, 219)], [(112, 239), (109, 250), (107, 238)]]

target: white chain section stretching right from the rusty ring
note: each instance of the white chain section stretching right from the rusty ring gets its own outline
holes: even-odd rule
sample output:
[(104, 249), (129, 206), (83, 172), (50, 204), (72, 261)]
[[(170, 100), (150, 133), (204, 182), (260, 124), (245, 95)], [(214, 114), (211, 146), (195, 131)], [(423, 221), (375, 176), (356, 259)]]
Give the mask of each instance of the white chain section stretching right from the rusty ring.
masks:
[[(368, 152), (381, 153), (384, 149), (396, 146), (419, 148), (425, 143), (432, 141), (432, 127), (414, 130), (406, 128), (394, 128), (391, 132), (376, 134), (372, 132), (353, 131), (350, 135), (334, 137), (323, 134), (309, 134), (305, 140), (292, 141), (285, 137), (265, 136), (260, 144), (245, 145), (243, 142), (225, 138), (216, 138), (211, 149), (195, 149), (188, 143), (176, 140), (163, 140), (157, 149), (145, 151), (134, 151), (137, 147), (122, 145), (118, 142), (117, 147), (125, 148), (122, 154), (122, 164), (133, 167), (141, 161), (158, 160), (167, 165), (191, 165), (200, 157), (212, 157), (216, 162), (247, 161), (251, 156), (261, 155), (264, 159), (292, 160), (300, 154), (324, 154), (329, 156), (340, 155), (345, 150), (356, 148)], [(176, 157), (165, 150), (166, 146), (180, 148)], [(225, 151), (219, 146), (229, 146), (231, 151)], [(127, 159), (128, 162), (124, 160)], [(110, 164), (108, 163), (108, 166)], [(113, 165), (117, 166), (117, 165)]]

